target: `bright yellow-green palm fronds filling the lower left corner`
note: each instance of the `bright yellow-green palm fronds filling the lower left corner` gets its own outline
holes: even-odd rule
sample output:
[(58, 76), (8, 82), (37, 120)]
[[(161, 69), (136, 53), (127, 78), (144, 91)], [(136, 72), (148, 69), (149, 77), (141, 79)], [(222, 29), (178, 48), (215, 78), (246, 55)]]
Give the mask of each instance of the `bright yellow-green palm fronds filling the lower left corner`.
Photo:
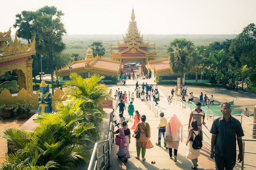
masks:
[(4, 136), (13, 152), (6, 156), (2, 169), (74, 169), (79, 160), (89, 161), (88, 142), (96, 127), (86, 122), (80, 105), (72, 98), (57, 106), (59, 112), (38, 116), (38, 127), (31, 132), (8, 128)]

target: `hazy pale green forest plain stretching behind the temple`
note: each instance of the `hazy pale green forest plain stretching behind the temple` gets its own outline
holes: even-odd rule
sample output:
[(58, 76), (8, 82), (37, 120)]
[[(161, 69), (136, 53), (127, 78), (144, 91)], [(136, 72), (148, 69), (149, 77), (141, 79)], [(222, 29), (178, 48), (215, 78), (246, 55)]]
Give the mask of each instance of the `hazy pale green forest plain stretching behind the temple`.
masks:
[[(144, 34), (143, 40), (149, 40), (152, 44), (156, 42), (156, 52), (158, 57), (166, 57), (166, 48), (169, 43), (174, 40), (174, 38), (186, 38), (187, 40), (192, 40), (195, 46), (209, 45), (213, 42), (222, 42), (235, 38), (237, 35), (230, 34), (172, 34), (172, 35), (154, 35), (154, 34)], [(15, 36), (12, 35), (12, 40)], [(64, 36), (63, 41), (66, 43), (66, 49), (63, 53), (69, 54), (70, 57), (72, 53), (78, 53), (79, 59), (84, 59), (86, 56), (86, 51), (90, 44), (95, 41), (103, 42), (103, 46), (106, 49), (104, 56), (110, 55), (110, 42), (117, 44), (117, 39), (122, 42), (123, 36), (121, 34), (112, 35), (67, 35)], [(26, 40), (20, 39), (21, 43), (28, 43)]]

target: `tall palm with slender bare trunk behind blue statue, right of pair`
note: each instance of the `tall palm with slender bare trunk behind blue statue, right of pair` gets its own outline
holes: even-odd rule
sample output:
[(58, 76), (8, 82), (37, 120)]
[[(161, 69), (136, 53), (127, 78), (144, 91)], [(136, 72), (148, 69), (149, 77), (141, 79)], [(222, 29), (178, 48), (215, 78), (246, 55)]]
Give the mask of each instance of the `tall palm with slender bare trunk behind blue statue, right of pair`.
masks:
[[(40, 10), (39, 10), (40, 11)], [(52, 77), (52, 94), (54, 94), (54, 82), (53, 82), (53, 59), (52, 53), (60, 53), (66, 48), (66, 44), (63, 43), (62, 37), (66, 34), (64, 24), (60, 18), (54, 17), (52, 14), (38, 16), (34, 23), (36, 28), (36, 40), (37, 50), (40, 54), (48, 54), (50, 61), (50, 71)]]

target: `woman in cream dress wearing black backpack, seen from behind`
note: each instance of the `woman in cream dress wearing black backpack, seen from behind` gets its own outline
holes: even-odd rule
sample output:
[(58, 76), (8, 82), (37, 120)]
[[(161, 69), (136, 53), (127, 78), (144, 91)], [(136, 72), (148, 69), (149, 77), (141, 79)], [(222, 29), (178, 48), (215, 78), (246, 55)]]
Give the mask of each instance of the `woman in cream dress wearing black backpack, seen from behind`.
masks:
[(200, 148), (202, 148), (203, 132), (201, 128), (197, 127), (197, 121), (195, 119), (192, 120), (191, 127), (186, 141), (186, 145), (189, 143), (189, 146), (185, 158), (192, 161), (194, 167), (191, 167), (191, 169), (197, 170), (197, 158), (200, 155)]

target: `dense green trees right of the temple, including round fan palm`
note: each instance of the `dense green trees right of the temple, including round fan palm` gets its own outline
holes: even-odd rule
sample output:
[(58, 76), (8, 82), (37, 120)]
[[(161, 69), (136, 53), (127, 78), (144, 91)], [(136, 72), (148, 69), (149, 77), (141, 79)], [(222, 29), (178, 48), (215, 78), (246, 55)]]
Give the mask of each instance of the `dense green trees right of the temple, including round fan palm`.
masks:
[[(188, 73), (192, 67), (204, 69), (209, 83), (235, 84), (244, 80), (248, 88), (256, 88), (256, 26), (249, 24), (231, 40), (197, 46), (191, 40), (176, 38), (167, 48), (170, 67), (174, 73)], [(197, 82), (197, 76), (196, 76)]]

